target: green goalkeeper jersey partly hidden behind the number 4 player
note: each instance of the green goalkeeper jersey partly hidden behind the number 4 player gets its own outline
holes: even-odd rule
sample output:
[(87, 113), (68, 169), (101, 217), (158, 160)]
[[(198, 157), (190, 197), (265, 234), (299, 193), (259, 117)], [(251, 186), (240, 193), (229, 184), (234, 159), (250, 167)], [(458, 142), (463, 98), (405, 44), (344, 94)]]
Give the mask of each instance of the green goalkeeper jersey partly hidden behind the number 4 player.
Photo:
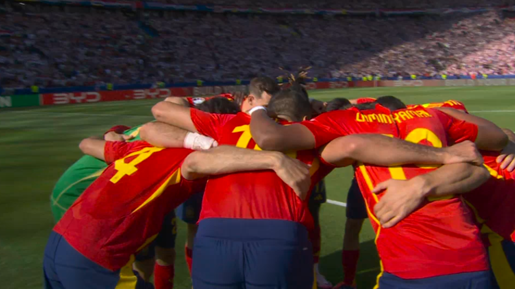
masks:
[[(141, 140), (141, 126), (131, 128), (124, 134), (134, 136), (130, 141)], [(50, 207), (56, 223), (105, 168), (107, 165), (103, 160), (84, 155), (61, 175), (50, 196)]]

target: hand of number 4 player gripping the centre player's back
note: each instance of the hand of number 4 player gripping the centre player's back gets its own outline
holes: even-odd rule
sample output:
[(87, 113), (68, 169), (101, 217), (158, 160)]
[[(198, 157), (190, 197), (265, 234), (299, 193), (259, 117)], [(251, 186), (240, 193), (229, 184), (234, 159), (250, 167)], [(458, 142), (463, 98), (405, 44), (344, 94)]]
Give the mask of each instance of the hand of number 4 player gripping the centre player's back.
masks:
[(281, 154), (273, 170), (301, 200), (305, 200), (310, 190), (311, 176), (310, 168), (304, 162)]

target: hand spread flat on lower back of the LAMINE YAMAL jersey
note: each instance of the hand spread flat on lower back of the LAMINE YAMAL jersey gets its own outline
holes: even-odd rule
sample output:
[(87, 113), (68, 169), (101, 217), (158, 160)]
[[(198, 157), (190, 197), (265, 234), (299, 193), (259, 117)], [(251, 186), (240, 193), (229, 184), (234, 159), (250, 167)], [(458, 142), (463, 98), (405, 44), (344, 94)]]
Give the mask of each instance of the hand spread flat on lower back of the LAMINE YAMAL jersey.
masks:
[(389, 228), (402, 221), (415, 211), (425, 200), (427, 191), (423, 178), (409, 180), (389, 179), (377, 185), (372, 193), (386, 190), (379, 203), (374, 206), (374, 213), (384, 228)]

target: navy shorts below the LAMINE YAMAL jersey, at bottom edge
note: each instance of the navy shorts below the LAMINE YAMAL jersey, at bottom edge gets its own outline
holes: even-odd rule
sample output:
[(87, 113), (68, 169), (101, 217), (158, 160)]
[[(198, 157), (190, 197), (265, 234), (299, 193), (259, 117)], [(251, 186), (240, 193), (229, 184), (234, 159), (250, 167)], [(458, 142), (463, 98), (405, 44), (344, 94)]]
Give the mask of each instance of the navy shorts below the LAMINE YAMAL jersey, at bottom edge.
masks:
[(389, 273), (379, 278), (380, 289), (490, 289), (490, 272), (472, 272), (423, 279), (402, 279)]

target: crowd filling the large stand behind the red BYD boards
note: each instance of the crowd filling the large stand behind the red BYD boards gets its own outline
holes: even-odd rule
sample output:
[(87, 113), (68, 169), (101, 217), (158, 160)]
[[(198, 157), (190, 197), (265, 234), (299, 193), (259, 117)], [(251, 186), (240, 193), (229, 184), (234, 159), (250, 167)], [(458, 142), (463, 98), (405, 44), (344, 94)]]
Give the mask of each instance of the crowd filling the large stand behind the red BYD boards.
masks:
[(496, 11), (366, 19), (169, 12), (144, 18), (108, 10), (7, 13), (0, 17), (8, 35), (0, 38), (0, 85), (231, 81), (303, 65), (313, 66), (318, 78), (515, 74), (515, 24)]

